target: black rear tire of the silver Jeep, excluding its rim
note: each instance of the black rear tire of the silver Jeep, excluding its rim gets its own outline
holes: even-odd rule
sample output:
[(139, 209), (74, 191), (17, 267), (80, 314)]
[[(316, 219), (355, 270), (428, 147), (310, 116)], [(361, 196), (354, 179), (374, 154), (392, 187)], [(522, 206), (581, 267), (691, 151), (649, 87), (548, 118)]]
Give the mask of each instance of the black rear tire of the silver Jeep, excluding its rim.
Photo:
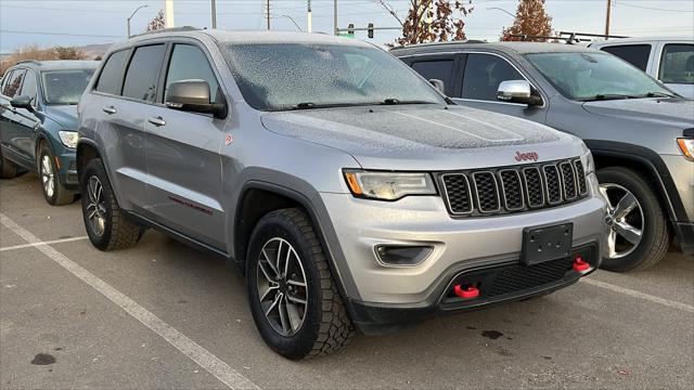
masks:
[[(104, 221), (102, 232), (99, 232), (98, 227), (89, 219), (90, 213), (93, 211), (93, 208), (90, 208), (92, 198), (89, 190), (92, 178), (95, 178), (102, 187), (103, 200), (100, 202), (103, 206), (103, 212), (100, 209)], [(89, 240), (97, 249), (104, 251), (126, 249), (134, 246), (140, 240), (144, 233), (144, 227), (128, 221), (120, 207), (118, 207), (101, 159), (94, 158), (87, 164), (80, 178), (80, 188), (85, 227), (87, 229)]]

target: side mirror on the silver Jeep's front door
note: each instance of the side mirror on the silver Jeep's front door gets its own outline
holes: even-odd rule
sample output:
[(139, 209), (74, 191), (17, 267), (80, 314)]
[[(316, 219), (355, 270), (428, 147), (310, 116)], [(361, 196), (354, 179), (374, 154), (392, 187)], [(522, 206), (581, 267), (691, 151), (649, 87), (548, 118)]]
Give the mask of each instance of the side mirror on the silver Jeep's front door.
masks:
[(180, 80), (169, 84), (166, 106), (172, 109), (227, 116), (227, 106), (210, 101), (209, 84), (205, 80)]

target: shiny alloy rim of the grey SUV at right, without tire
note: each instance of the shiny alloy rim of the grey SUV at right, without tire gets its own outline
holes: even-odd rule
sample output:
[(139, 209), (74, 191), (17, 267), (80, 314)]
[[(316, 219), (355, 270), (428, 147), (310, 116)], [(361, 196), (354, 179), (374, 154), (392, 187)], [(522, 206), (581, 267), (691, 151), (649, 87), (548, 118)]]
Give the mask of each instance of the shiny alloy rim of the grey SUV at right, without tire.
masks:
[(600, 184), (600, 192), (607, 200), (605, 223), (609, 227), (607, 247), (609, 259), (618, 259), (633, 252), (643, 237), (644, 219), (637, 197), (619, 184)]

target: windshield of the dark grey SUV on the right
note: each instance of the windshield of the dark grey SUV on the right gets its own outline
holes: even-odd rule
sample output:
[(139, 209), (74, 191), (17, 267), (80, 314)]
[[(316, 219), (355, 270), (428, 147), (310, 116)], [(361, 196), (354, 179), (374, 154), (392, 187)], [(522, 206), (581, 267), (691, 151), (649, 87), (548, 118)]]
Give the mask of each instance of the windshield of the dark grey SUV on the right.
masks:
[(574, 100), (671, 96), (656, 80), (607, 53), (534, 53), (526, 58)]

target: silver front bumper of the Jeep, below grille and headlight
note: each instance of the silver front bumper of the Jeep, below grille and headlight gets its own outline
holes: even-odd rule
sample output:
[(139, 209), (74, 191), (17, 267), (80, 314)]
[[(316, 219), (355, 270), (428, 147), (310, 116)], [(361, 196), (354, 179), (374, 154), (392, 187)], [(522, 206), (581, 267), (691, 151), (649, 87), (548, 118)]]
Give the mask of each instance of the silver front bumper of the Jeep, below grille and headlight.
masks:
[[(364, 308), (386, 308), (388, 311), (439, 311), (444, 290), (452, 278), (463, 272), (517, 265), (520, 261), (523, 230), (570, 221), (574, 224), (573, 247), (593, 245), (593, 268), (600, 265), (605, 236), (605, 203), (590, 176), (589, 197), (565, 206), (515, 214), (453, 219), (440, 197), (410, 196), (394, 203), (358, 199), (348, 194), (321, 193), (342, 248), (349, 276), (357, 294), (346, 297), (352, 320), (364, 328), (361, 320), (377, 321), (378, 316), (360, 317)], [(415, 266), (387, 266), (376, 259), (376, 245), (429, 245), (434, 250)], [(581, 274), (582, 275), (582, 274)], [(345, 277), (345, 275), (342, 275)], [(567, 286), (578, 276), (562, 280), (556, 286)], [(535, 294), (524, 291), (520, 299)], [(497, 300), (494, 300), (496, 302)], [(483, 302), (493, 303), (492, 301)]]

